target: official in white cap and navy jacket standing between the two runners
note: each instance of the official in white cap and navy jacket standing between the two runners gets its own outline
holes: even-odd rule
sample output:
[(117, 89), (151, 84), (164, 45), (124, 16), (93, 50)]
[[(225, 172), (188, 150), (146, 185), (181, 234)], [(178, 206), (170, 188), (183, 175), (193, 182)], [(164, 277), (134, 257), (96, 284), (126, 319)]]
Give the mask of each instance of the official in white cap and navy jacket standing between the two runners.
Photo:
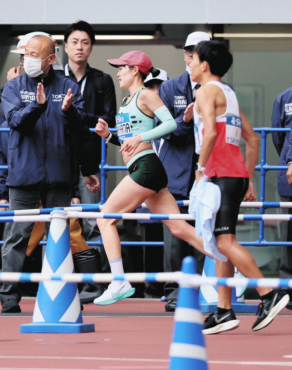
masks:
[[(159, 158), (167, 173), (167, 188), (176, 200), (189, 199), (190, 189), (195, 179), (195, 166), (198, 156), (195, 153), (194, 121), (184, 121), (184, 111), (195, 99), (198, 85), (190, 79), (190, 63), (193, 60), (194, 46), (202, 40), (210, 40), (205, 32), (189, 34), (184, 49), (186, 72), (170, 80), (164, 81), (158, 90), (158, 95), (169, 109), (176, 121), (177, 128), (163, 136), (156, 146)], [(157, 124), (160, 122), (157, 121)], [(157, 139), (156, 139), (157, 140)], [(181, 213), (188, 213), (187, 207), (180, 208)], [(183, 258), (192, 253), (200, 261), (199, 270), (203, 268), (203, 255), (193, 247), (172, 235), (163, 225), (164, 233), (164, 272), (180, 270)], [(167, 282), (164, 293), (167, 300), (166, 311), (174, 311), (177, 303), (177, 283)]]

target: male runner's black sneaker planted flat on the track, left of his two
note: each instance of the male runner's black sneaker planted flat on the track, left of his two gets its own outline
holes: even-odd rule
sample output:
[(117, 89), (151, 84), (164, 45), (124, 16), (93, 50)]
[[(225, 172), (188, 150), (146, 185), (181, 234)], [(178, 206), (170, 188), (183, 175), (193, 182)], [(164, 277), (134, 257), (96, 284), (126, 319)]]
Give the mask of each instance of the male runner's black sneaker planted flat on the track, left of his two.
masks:
[(202, 330), (203, 334), (216, 334), (227, 330), (236, 329), (239, 326), (240, 320), (237, 320), (232, 309), (223, 314), (212, 312), (205, 319)]

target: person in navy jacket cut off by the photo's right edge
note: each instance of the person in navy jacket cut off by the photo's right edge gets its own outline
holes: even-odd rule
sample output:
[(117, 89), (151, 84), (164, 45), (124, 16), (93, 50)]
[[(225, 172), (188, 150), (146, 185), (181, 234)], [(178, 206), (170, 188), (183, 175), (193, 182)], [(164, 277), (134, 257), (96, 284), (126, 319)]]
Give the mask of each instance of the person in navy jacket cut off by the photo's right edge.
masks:
[[(292, 87), (281, 92), (276, 98), (272, 112), (272, 127), (292, 127)], [(272, 138), (280, 157), (278, 165), (285, 166), (286, 163), (292, 161), (291, 134), (290, 132), (272, 132)], [(292, 166), (290, 165), (290, 167)], [(288, 169), (288, 179), (289, 173)], [(288, 184), (285, 170), (278, 171), (278, 193), (281, 197), (281, 202), (292, 202), (292, 186)], [(282, 208), (282, 213), (291, 214), (292, 208)], [(283, 240), (291, 242), (292, 221), (282, 222), (282, 232)], [(292, 248), (289, 246), (282, 246), (281, 248), (280, 277), (282, 279), (292, 279)], [(292, 290), (288, 289), (287, 293), (290, 296), (290, 301), (286, 308), (292, 310)]]

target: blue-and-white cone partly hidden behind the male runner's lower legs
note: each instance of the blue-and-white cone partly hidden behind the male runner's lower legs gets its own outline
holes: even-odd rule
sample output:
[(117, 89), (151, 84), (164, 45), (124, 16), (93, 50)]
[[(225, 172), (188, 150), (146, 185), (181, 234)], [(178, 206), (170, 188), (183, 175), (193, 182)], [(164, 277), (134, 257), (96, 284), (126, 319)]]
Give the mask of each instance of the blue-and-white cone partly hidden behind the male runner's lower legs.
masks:
[[(206, 256), (202, 276), (216, 276), (215, 265), (216, 262)], [(218, 303), (217, 287), (212, 285), (201, 286), (199, 291), (199, 303), (202, 312), (215, 312)], [(257, 312), (258, 305), (245, 304), (244, 296), (241, 295), (238, 297), (236, 295), (236, 289), (232, 288), (231, 308), (234, 312)]]

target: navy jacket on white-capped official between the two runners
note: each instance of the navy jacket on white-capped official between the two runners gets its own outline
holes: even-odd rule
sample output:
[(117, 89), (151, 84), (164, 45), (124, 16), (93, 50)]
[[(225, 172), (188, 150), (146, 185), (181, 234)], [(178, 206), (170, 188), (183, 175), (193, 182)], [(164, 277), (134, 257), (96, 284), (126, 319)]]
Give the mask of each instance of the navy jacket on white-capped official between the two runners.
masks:
[(172, 194), (189, 196), (198, 159), (195, 153), (194, 121), (183, 121), (187, 105), (193, 102), (189, 73), (186, 71), (179, 77), (164, 81), (158, 95), (177, 124), (173, 132), (163, 136), (165, 142), (159, 153), (168, 177), (167, 188)]

